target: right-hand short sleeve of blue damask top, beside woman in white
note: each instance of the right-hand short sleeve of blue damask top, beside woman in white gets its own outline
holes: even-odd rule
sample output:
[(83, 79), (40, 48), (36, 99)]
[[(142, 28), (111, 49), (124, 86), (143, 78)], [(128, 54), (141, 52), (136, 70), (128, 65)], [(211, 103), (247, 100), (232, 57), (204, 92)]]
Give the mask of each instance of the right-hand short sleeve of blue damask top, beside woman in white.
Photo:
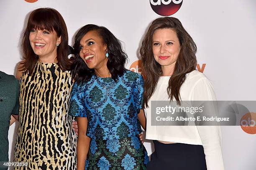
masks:
[(142, 109), (142, 104), (143, 104), (143, 92), (144, 92), (144, 79), (139, 74), (139, 77), (136, 79), (135, 82), (135, 87), (134, 87), (134, 102), (136, 105), (136, 109)]

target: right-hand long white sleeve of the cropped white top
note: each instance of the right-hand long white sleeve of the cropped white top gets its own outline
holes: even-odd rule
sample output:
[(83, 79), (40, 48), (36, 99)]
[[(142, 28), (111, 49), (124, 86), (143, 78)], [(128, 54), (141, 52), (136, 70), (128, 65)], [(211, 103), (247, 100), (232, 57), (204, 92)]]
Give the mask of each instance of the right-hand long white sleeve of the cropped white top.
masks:
[[(192, 89), (191, 101), (215, 101), (216, 96), (210, 81), (200, 78)], [(220, 126), (197, 126), (204, 147), (207, 170), (224, 170), (221, 149)]]

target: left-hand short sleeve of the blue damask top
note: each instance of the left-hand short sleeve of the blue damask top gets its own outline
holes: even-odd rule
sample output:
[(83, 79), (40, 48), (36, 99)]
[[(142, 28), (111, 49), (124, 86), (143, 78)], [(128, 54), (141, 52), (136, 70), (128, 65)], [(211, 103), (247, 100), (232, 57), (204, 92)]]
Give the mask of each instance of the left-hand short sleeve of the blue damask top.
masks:
[(84, 98), (82, 95), (82, 86), (74, 83), (69, 103), (69, 116), (87, 117), (84, 107)]

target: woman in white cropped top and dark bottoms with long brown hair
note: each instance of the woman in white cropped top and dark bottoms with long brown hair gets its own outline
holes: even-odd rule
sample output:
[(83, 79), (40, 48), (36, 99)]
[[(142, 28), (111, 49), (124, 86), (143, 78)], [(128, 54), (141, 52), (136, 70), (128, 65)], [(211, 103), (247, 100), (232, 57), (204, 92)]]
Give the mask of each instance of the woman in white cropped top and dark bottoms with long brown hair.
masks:
[(214, 101), (212, 85), (196, 71), (197, 47), (177, 18), (154, 20), (140, 49), (146, 139), (154, 140), (149, 170), (224, 170), (217, 126), (153, 126), (151, 101)]

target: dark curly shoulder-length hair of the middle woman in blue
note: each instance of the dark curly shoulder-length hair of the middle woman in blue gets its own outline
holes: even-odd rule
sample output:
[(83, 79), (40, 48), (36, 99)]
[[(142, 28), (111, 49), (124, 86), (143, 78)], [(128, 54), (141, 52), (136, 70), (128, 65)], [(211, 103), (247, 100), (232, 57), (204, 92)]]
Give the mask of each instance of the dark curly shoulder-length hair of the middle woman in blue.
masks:
[(88, 24), (83, 26), (77, 33), (74, 39), (74, 62), (72, 63), (72, 78), (78, 84), (84, 81), (89, 81), (92, 75), (95, 74), (94, 69), (87, 67), (86, 63), (79, 56), (80, 52), (80, 40), (89, 31), (97, 31), (99, 36), (102, 38), (103, 43), (107, 45), (108, 49), (108, 61), (107, 67), (110, 71), (112, 79), (118, 80), (118, 76), (122, 76), (125, 69), (125, 63), (127, 61), (127, 54), (123, 51), (120, 40), (118, 40), (113, 33), (105, 27)]

